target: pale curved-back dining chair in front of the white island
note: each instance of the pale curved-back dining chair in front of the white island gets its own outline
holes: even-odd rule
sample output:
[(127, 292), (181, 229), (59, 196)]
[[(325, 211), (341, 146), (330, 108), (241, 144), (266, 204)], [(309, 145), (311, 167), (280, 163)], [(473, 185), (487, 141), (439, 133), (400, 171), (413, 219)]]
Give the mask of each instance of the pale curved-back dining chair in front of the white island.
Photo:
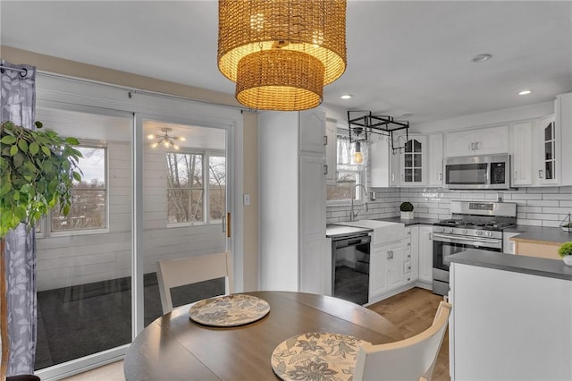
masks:
[(452, 306), (441, 301), (433, 324), (399, 342), (363, 344), (357, 353), (354, 381), (430, 380)]

